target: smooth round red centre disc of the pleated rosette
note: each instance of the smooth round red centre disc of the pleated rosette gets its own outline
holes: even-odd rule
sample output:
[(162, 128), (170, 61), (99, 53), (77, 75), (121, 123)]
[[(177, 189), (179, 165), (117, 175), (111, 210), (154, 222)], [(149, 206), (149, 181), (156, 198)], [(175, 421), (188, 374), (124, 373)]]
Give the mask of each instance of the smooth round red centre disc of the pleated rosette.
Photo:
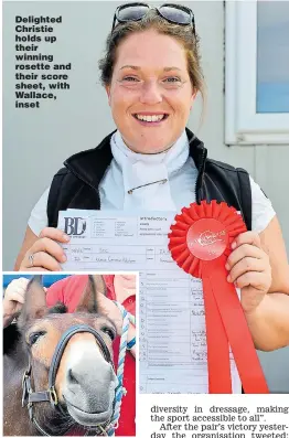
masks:
[(214, 260), (227, 247), (228, 234), (225, 225), (214, 218), (196, 221), (186, 234), (186, 244), (193, 256), (201, 260)]

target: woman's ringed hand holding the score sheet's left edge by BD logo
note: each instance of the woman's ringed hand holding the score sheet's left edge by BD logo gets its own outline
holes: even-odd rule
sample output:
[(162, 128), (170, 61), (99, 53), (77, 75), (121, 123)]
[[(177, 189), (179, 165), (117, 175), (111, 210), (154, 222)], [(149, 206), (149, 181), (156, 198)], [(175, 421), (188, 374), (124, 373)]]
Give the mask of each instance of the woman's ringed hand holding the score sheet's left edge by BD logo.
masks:
[(62, 270), (60, 264), (66, 261), (66, 257), (60, 243), (67, 242), (69, 237), (61, 229), (43, 228), (38, 241), (25, 253), (19, 270)]

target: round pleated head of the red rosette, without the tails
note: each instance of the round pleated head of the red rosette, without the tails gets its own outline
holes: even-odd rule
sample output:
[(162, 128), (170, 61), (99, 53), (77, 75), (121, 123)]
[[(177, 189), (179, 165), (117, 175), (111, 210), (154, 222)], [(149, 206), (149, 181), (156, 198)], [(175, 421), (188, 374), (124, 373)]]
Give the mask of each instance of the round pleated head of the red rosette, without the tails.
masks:
[(232, 242), (247, 228), (240, 214), (225, 202), (202, 201), (182, 209), (170, 229), (172, 258), (185, 273), (202, 278), (202, 261), (220, 257), (225, 261)]

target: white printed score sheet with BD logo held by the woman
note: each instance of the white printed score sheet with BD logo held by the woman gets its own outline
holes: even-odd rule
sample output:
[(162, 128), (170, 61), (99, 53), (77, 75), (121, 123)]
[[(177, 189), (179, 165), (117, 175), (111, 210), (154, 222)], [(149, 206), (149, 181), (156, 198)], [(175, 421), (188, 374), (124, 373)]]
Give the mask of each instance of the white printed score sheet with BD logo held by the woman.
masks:
[[(58, 228), (78, 218), (63, 245), (64, 270), (139, 271), (140, 393), (206, 394), (207, 354), (202, 281), (171, 258), (175, 213), (67, 210)], [(81, 217), (79, 217), (81, 216)], [(216, 340), (217, 342), (217, 340)], [(242, 386), (231, 353), (232, 387)]]

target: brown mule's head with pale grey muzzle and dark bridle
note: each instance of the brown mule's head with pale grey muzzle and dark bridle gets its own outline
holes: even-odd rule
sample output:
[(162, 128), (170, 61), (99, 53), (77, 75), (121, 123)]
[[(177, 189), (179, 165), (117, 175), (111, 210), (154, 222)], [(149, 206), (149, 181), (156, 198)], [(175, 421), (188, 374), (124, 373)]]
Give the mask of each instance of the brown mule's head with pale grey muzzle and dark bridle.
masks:
[(109, 421), (114, 412), (115, 388), (118, 381), (111, 362), (106, 357), (104, 346), (113, 357), (116, 328), (108, 318), (98, 313), (99, 293), (106, 293), (103, 277), (89, 276), (75, 313), (67, 313), (65, 306), (60, 303), (47, 309), (45, 291), (39, 278), (34, 278), (28, 287), (19, 327), (31, 357), (35, 392), (49, 388), (49, 371), (53, 366), (54, 351), (63, 334), (72, 327), (86, 325), (96, 330), (101, 336), (99, 342), (89, 331), (76, 332), (68, 336), (62, 351), (54, 386), (62, 414), (64, 412), (65, 416), (57, 414), (58, 421), (55, 423), (55, 412), (50, 404), (35, 404), (35, 412), (40, 418), (43, 415), (45, 421), (47, 416), (54, 418), (54, 424), (57, 424), (57, 435), (60, 418), (64, 430), (72, 423), (84, 426), (104, 424)]

